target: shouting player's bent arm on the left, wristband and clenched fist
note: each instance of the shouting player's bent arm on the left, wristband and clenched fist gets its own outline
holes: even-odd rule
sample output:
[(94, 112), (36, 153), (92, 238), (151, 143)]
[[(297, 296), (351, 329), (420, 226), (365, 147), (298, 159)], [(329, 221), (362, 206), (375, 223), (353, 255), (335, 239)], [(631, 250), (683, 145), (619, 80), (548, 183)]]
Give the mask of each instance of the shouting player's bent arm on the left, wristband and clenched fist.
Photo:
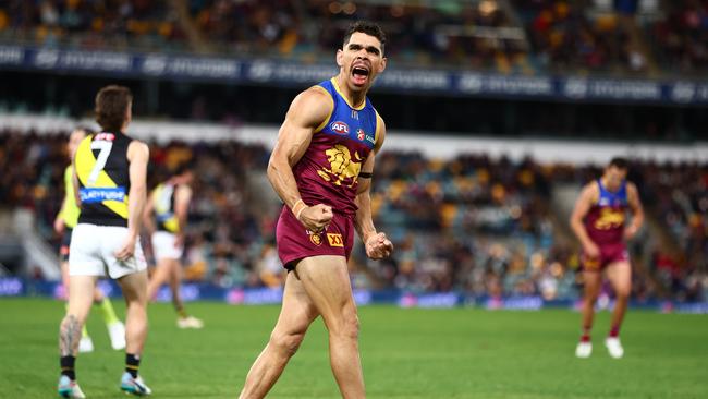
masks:
[(310, 231), (322, 230), (332, 219), (332, 208), (317, 204), (307, 206), (300, 196), (293, 167), (303, 157), (313, 134), (331, 110), (328, 95), (309, 88), (295, 97), (285, 121), (280, 126), (278, 142), (268, 161), (268, 180), (300, 222)]

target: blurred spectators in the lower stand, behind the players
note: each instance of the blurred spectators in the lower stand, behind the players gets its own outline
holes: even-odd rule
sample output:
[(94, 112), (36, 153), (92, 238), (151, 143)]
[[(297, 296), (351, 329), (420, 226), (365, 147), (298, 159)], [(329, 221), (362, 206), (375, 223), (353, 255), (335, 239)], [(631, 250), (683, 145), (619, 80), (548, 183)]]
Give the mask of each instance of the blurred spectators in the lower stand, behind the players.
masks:
[[(39, 140), (8, 129), (0, 133), (0, 166), (8, 171), (0, 194), (11, 207), (32, 209), (40, 231), (54, 242), (51, 222), (61, 202), (56, 188), (65, 166), (66, 134)], [(221, 287), (278, 287), (277, 208), (264, 213), (264, 200), (246, 181), (246, 171), (265, 170), (266, 148), (234, 141), (151, 147), (155, 181), (185, 159), (196, 161), (187, 277)], [(399, 251), (380, 263), (367, 263), (356, 251), (354, 283), (418, 293), (575, 298), (577, 247), (564, 237), (565, 219), (551, 208), (552, 193), (563, 184), (579, 189), (599, 171), (475, 154), (440, 160), (388, 152), (378, 162), (373, 210)], [(634, 298), (705, 300), (708, 165), (636, 161), (631, 179), (639, 185), (649, 218), (670, 232), (667, 239), (678, 249), (672, 253), (644, 239), (632, 245)]]

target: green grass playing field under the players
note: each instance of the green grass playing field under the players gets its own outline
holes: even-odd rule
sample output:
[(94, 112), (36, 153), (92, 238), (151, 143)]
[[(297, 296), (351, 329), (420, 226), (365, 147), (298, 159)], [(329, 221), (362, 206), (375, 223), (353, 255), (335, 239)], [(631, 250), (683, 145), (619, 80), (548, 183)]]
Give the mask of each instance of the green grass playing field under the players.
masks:
[[(114, 301), (119, 313), (122, 304)], [(156, 398), (235, 398), (268, 338), (277, 306), (193, 303), (204, 330), (180, 330), (167, 304), (150, 307), (141, 374)], [(53, 398), (57, 330), (63, 304), (0, 300), (0, 397)], [(708, 317), (630, 312), (625, 358), (601, 344), (609, 314), (596, 323), (595, 352), (573, 355), (578, 314), (472, 309), (361, 309), (362, 361), (369, 398), (708, 398)], [(100, 317), (88, 323), (96, 351), (77, 375), (88, 398), (118, 390), (123, 353), (110, 350)], [(338, 398), (327, 336), (315, 322), (269, 398)]]

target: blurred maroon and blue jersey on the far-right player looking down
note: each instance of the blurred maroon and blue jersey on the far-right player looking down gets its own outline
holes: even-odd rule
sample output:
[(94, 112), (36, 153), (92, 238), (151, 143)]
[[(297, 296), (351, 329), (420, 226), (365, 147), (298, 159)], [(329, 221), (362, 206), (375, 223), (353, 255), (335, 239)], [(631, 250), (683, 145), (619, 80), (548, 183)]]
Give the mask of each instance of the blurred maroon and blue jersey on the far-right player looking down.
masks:
[(608, 191), (598, 179), (600, 195), (585, 217), (585, 229), (590, 240), (602, 246), (623, 242), (626, 220), (627, 184), (623, 182), (617, 192)]

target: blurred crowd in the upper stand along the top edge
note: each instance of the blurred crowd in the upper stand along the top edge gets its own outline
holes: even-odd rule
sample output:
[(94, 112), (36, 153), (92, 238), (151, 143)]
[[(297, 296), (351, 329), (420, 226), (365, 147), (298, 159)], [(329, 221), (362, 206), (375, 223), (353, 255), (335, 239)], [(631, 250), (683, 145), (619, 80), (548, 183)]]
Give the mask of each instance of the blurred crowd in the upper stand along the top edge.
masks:
[(706, 69), (705, 0), (611, 3), (11, 0), (0, 5), (0, 39), (312, 62), (331, 57), (347, 23), (373, 19), (389, 33), (400, 64), (521, 74)]

